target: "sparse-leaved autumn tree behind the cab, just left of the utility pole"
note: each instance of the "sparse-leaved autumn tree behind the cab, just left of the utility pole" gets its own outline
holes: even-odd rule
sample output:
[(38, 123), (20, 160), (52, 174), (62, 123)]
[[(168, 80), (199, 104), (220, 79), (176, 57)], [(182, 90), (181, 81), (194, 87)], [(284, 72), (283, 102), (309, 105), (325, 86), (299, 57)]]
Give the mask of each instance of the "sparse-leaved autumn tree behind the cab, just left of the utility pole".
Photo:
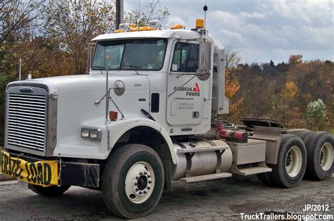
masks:
[(68, 62), (75, 65), (76, 74), (85, 74), (89, 41), (113, 29), (113, 2), (50, 0), (42, 11), (47, 37), (55, 39), (70, 54)]

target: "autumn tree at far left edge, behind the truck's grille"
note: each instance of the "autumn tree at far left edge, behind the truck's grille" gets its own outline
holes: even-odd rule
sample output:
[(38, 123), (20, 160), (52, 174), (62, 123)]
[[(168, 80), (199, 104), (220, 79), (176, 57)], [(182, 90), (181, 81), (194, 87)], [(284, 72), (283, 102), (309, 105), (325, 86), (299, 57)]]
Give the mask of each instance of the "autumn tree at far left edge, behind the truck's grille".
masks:
[[(23, 57), (23, 39), (27, 33), (35, 32), (39, 25), (39, 0), (0, 1), (0, 127), (4, 128), (4, 91), (6, 84), (18, 77), (18, 61), (32, 59), (33, 55)], [(29, 68), (24, 68), (27, 71)], [(0, 145), (4, 130), (0, 130)]]

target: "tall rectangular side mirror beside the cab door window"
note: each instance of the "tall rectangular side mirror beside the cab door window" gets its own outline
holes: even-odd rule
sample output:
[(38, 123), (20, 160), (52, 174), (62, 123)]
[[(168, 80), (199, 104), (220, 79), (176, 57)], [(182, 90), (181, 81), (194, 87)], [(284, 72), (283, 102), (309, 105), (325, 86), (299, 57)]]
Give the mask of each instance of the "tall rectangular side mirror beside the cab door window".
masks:
[(211, 67), (211, 43), (199, 42), (199, 65), (196, 71), (199, 80), (208, 80)]

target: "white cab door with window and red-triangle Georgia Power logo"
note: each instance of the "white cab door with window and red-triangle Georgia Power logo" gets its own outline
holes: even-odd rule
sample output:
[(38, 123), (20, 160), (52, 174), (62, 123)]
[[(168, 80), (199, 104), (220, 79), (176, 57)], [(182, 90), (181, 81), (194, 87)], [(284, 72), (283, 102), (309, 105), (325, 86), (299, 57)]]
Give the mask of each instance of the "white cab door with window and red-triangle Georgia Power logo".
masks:
[(169, 125), (197, 125), (202, 122), (205, 84), (195, 75), (198, 62), (197, 42), (175, 44), (167, 87)]

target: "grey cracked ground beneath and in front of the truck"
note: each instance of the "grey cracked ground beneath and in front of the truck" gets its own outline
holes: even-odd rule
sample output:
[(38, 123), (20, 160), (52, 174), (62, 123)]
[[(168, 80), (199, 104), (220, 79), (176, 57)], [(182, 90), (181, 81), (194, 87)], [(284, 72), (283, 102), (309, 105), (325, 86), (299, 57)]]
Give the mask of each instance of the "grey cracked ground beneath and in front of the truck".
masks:
[[(0, 183), (0, 220), (118, 219), (104, 206), (100, 191), (71, 187), (61, 197), (44, 198), (11, 183)], [(240, 220), (240, 213), (334, 215), (333, 192), (334, 178), (303, 180), (293, 189), (266, 187), (255, 176), (177, 183), (142, 220)], [(328, 211), (304, 212), (306, 204), (328, 205)]]

